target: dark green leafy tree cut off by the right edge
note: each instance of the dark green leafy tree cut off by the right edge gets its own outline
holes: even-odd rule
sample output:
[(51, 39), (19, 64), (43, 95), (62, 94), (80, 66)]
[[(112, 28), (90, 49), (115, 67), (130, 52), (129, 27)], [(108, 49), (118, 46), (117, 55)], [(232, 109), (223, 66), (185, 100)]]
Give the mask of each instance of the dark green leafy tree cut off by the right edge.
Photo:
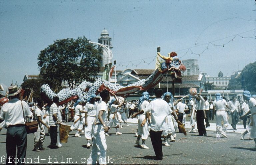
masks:
[(240, 78), (243, 89), (254, 94), (256, 92), (256, 61), (244, 67)]

